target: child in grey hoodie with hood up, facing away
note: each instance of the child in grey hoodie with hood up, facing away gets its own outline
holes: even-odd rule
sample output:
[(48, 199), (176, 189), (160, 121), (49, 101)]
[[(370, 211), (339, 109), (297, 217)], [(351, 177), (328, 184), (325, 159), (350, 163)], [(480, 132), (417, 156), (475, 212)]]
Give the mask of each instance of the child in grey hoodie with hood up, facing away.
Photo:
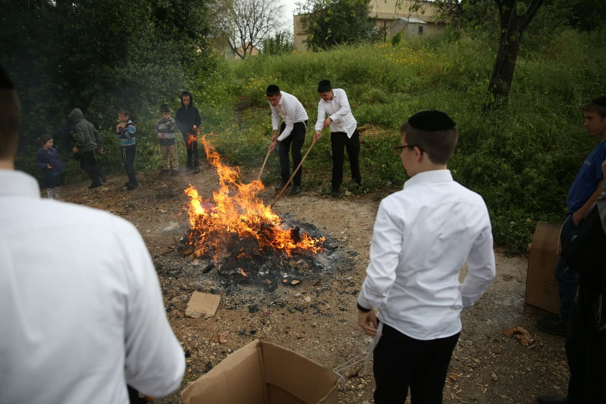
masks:
[(99, 168), (96, 158), (96, 151), (103, 154), (103, 142), (99, 131), (95, 126), (84, 119), (80, 108), (74, 108), (69, 114), (70, 119), (75, 124), (76, 145), (72, 148), (74, 154), (79, 153), (80, 168), (84, 170), (93, 181), (88, 187), (89, 190), (101, 187), (105, 183), (105, 170)]

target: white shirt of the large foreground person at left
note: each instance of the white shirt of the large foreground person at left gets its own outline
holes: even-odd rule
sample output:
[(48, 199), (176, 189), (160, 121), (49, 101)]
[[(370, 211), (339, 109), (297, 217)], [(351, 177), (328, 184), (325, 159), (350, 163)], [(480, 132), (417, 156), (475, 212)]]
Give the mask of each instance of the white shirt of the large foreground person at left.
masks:
[(0, 403), (127, 404), (177, 389), (185, 357), (136, 228), (41, 199), (0, 169)]

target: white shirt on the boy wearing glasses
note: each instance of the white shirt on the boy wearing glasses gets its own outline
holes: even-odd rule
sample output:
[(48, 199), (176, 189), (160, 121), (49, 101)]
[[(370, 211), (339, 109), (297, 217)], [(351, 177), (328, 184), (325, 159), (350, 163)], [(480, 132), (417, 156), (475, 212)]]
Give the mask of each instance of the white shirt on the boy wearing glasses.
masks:
[(461, 311), (494, 276), (484, 200), (448, 170), (424, 171), (381, 201), (358, 303), (411, 338), (444, 338), (461, 331)]

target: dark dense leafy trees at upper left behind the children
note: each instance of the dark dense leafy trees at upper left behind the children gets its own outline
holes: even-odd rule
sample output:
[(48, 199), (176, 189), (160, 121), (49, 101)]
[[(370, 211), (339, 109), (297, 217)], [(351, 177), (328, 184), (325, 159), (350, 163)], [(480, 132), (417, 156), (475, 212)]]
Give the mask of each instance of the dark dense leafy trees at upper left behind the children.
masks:
[(28, 139), (61, 139), (68, 112), (108, 125), (117, 108), (148, 116), (176, 98), (190, 71), (210, 72), (204, 0), (5, 0), (0, 60), (22, 103)]

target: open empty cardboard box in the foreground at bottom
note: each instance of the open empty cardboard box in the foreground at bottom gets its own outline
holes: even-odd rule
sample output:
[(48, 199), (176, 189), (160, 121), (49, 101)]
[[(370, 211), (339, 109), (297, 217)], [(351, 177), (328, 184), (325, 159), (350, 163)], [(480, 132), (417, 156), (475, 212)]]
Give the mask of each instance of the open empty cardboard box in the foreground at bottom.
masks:
[(338, 376), (289, 349), (254, 340), (191, 382), (184, 404), (338, 404)]

